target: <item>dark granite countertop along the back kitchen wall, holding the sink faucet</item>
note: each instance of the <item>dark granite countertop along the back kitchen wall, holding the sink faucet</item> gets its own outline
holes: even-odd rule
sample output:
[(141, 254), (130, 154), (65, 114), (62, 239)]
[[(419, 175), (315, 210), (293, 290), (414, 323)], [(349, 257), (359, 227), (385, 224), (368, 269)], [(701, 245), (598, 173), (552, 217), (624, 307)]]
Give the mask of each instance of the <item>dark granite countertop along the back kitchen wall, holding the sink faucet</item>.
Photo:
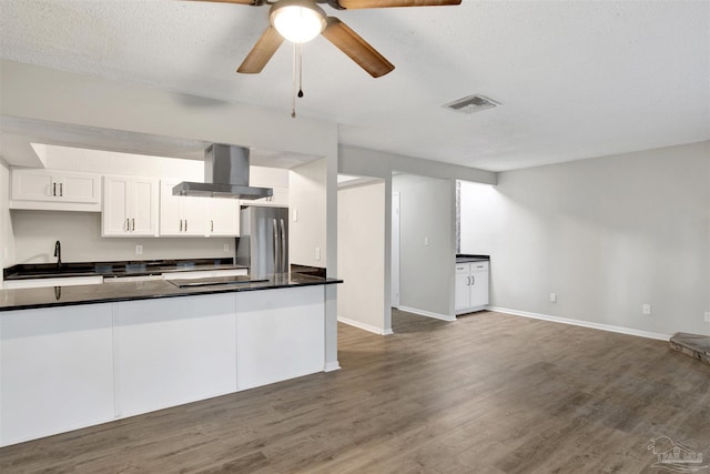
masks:
[(4, 280), (62, 276), (148, 276), (171, 272), (245, 269), (234, 259), (136, 260), (123, 262), (21, 263), (3, 270)]

